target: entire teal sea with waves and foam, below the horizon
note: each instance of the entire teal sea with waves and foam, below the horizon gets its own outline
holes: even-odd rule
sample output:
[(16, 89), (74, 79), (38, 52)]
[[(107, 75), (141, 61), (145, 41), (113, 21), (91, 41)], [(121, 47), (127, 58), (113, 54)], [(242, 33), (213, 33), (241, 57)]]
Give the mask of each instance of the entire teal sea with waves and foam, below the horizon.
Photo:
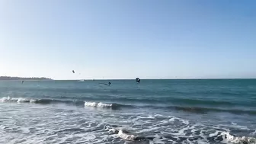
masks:
[(0, 143), (256, 143), (256, 79), (0, 81), (0, 98)]

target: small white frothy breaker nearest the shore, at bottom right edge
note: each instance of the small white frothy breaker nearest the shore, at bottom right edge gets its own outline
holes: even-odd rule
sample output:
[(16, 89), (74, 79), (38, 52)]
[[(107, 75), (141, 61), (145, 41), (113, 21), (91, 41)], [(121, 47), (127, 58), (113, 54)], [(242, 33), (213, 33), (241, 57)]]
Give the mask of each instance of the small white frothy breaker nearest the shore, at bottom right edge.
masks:
[[(256, 139), (253, 137), (247, 136), (234, 136), (229, 132), (216, 131), (215, 133), (210, 133), (207, 135), (198, 135), (198, 136), (182, 136), (185, 133), (181, 133), (181, 136), (166, 135), (166, 136), (140, 136), (136, 132), (130, 132), (129, 130), (123, 129), (119, 126), (105, 126), (105, 130), (109, 131), (112, 134), (117, 135), (120, 139), (127, 141), (158, 141), (159, 143), (165, 142), (192, 142), (192, 143), (211, 143), (211, 142), (222, 142), (222, 143), (234, 143), (234, 144), (256, 144)], [(192, 130), (193, 131), (193, 130)], [(141, 134), (142, 135), (142, 134)], [(162, 141), (162, 142), (161, 142)], [(148, 143), (148, 142), (147, 142)]]

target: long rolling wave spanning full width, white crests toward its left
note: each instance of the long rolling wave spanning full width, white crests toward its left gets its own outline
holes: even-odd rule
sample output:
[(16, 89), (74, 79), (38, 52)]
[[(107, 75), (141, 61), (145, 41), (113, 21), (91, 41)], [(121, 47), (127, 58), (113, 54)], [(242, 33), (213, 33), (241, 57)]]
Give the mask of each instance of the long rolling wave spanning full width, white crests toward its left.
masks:
[(59, 100), (59, 99), (33, 99), (33, 98), (11, 98), (4, 97), (0, 98), (0, 102), (16, 102), (16, 103), (33, 103), (33, 104), (72, 104), (82, 107), (101, 107), (101, 108), (137, 108), (137, 107), (148, 107), (154, 109), (165, 109), (165, 110), (182, 110), (188, 113), (205, 114), (209, 112), (219, 113), (232, 113), (232, 114), (251, 114), (256, 115), (256, 110), (240, 110), (240, 109), (224, 109), (219, 107), (186, 107), (186, 106), (161, 106), (161, 105), (128, 105), (128, 104), (117, 104), (117, 103), (103, 103), (99, 101), (74, 101), (74, 100)]

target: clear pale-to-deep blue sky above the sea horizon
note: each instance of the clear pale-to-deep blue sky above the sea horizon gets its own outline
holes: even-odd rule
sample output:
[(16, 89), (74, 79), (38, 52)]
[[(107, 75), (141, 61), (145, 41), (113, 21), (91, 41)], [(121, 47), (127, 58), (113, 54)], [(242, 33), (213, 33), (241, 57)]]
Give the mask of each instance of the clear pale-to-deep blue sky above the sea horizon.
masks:
[(1, 0), (0, 75), (256, 78), (256, 1)]

